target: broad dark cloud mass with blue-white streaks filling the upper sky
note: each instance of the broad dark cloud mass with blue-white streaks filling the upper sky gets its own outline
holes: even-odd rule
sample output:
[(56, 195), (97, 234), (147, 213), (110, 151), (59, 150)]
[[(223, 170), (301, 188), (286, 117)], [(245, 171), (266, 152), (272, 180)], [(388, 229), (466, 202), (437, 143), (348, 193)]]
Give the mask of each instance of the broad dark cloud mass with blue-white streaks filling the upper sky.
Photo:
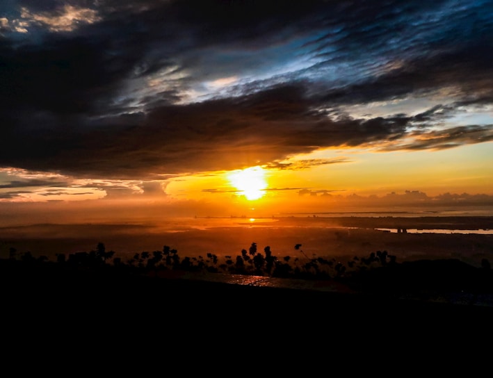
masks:
[[(491, 1), (8, 1), (0, 165), (157, 179), (323, 147), (485, 142), (490, 125), (433, 126), (492, 104), (492, 15)], [(444, 90), (418, 115), (346, 114)]]

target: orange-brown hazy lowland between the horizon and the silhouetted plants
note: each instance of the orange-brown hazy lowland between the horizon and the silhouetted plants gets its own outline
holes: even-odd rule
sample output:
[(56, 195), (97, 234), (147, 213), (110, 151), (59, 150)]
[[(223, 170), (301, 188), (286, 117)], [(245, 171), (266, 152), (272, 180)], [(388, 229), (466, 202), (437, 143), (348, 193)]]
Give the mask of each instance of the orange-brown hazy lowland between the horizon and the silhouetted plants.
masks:
[[(409, 215), (409, 214), (408, 214)], [(380, 229), (402, 229), (388, 232)], [(407, 229), (448, 229), (452, 233), (410, 233)], [(56, 254), (95, 249), (102, 242), (123, 260), (136, 252), (177, 249), (181, 256), (221, 258), (239, 255), (251, 243), (269, 246), (274, 256), (307, 256), (348, 260), (387, 251), (398, 261), (420, 258), (459, 258), (480, 266), (493, 259), (493, 234), (453, 233), (460, 229), (493, 229), (493, 217), (467, 216), (331, 216), (297, 215), (266, 219), (243, 217), (168, 218), (156, 224), (31, 224), (0, 228), (0, 256), (15, 247), (54, 260)]]

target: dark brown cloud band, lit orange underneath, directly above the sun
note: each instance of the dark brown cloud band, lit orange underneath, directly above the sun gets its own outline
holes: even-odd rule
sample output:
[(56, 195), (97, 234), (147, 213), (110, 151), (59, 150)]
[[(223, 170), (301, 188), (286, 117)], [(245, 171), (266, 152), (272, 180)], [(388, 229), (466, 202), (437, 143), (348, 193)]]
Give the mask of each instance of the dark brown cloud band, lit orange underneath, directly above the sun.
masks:
[[(331, 121), (312, 114), (299, 86), (235, 99), (162, 106), (121, 127), (114, 118), (97, 128), (54, 135), (18, 135), (0, 151), (3, 161), (25, 158), (31, 170), (131, 178), (161, 172), (234, 169), (329, 145), (360, 145), (404, 133), (408, 119)], [(139, 122), (140, 121), (140, 122)], [(70, 149), (63, 147), (70, 146)], [(21, 148), (24, 146), (24, 149)], [(26, 151), (25, 147), (31, 147)], [(47, 148), (49, 149), (47, 150)], [(51, 154), (49, 154), (51, 152)]]

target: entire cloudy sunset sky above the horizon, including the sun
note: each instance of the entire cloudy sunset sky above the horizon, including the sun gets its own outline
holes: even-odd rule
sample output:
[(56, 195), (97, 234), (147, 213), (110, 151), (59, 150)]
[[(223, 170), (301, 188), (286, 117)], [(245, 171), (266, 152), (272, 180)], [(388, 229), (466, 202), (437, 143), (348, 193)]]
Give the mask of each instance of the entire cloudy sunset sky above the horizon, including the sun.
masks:
[(492, 205), (492, 61), (491, 0), (3, 0), (1, 222)]

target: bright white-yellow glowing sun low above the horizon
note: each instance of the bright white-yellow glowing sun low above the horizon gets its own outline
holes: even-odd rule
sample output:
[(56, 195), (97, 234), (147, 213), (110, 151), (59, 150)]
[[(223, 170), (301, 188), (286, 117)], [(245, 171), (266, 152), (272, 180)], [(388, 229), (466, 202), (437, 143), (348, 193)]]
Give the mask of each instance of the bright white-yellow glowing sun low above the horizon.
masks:
[(227, 179), (241, 195), (251, 201), (264, 196), (267, 188), (265, 176), (266, 171), (262, 167), (250, 167), (230, 172), (227, 174)]

